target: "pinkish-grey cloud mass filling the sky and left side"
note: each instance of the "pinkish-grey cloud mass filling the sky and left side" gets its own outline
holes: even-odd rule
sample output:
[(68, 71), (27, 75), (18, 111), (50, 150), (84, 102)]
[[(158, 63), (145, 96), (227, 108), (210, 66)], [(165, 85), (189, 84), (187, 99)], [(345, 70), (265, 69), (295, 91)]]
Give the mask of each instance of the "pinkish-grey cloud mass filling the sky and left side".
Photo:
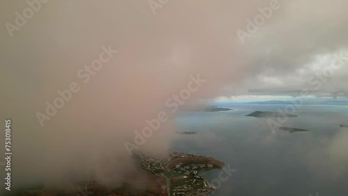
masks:
[[(16, 179), (56, 183), (93, 170), (103, 183), (120, 181), (133, 168), (123, 142), (185, 88), (191, 74), (207, 80), (192, 102), (248, 95), (249, 89), (301, 90), (329, 56), (347, 54), (343, 0), (279, 1), (242, 44), (237, 30), (245, 31), (246, 19), (269, 2), (168, 1), (154, 15), (147, 1), (47, 1), (11, 37), (6, 23), (15, 25), (16, 12), (29, 5), (1, 1), (0, 116), (13, 119)], [(81, 83), (77, 72), (108, 45), (118, 54)], [(347, 72), (345, 64), (317, 90), (347, 96)], [(40, 126), (35, 113), (74, 81), (81, 90)], [(146, 148), (167, 149), (172, 129), (171, 122), (162, 126)], [(113, 168), (117, 176), (99, 172), (101, 152), (122, 160)]]

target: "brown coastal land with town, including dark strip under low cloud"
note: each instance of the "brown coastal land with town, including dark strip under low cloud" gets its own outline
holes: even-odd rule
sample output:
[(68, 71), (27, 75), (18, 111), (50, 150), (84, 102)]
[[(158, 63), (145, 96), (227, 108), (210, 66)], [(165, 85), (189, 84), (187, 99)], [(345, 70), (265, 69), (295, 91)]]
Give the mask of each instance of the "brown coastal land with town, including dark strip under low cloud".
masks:
[(214, 158), (174, 151), (161, 154), (136, 152), (132, 158), (137, 167), (122, 177), (122, 183), (118, 187), (104, 186), (93, 179), (77, 181), (64, 189), (46, 188), (43, 185), (35, 188), (17, 188), (8, 195), (203, 196), (209, 195), (215, 188), (200, 176), (200, 172), (223, 168), (225, 165)]

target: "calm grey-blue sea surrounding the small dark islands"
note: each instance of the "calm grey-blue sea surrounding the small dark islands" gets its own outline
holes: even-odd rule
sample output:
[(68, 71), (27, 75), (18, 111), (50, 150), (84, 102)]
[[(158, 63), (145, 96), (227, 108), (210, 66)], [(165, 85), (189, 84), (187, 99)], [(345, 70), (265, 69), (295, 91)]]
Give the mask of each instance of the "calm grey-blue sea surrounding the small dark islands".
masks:
[[(198, 133), (172, 142), (173, 149), (212, 156), (237, 170), (214, 195), (347, 195), (348, 130), (339, 126), (347, 124), (347, 106), (302, 106), (283, 126), (309, 132), (272, 133), (267, 118), (244, 115), (285, 105), (214, 104), (234, 110), (178, 114), (177, 129)], [(219, 172), (203, 176), (212, 181)]]

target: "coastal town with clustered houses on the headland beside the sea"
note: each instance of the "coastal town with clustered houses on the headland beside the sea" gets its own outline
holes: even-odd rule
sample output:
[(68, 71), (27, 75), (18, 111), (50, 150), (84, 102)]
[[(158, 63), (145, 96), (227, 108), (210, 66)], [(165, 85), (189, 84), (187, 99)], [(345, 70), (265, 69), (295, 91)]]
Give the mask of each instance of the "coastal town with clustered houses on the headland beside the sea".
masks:
[(166, 177), (168, 195), (209, 195), (215, 188), (205, 181), (200, 172), (224, 165), (214, 158), (174, 151), (164, 154), (137, 152), (136, 156), (140, 168)]

